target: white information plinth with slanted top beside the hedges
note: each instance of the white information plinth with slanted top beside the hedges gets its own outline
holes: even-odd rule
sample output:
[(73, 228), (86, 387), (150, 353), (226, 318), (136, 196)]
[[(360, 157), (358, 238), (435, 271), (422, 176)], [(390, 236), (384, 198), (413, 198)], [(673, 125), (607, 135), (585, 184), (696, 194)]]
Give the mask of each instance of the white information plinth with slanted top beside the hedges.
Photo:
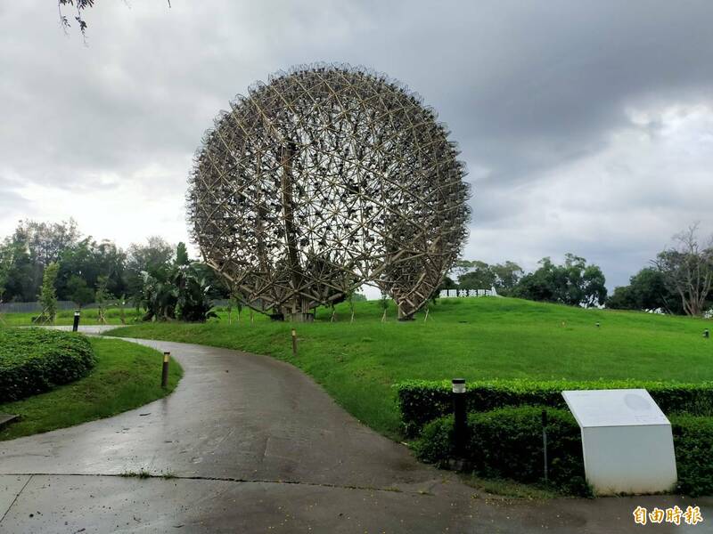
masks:
[(582, 429), (586, 480), (599, 495), (676, 484), (671, 424), (643, 389), (562, 392)]

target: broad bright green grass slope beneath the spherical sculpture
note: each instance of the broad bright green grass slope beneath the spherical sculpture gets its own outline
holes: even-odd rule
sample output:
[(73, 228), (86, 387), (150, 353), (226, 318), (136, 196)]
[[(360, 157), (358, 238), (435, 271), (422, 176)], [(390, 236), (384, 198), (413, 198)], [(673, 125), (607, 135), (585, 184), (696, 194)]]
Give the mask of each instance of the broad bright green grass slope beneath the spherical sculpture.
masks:
[[(337, 321), (327, 310), (313, 324), (274, 323), (242, 314), (207, 324), (150, 323), (111, 331), (240, 349), (287, 360), (313, 376), (355, 417), (391, 437), (400, 434), (391, 384), (409, 378), (713, 379), (708, 320), (640, 312), (584, 310), (508, 298), (441, 299), (428, 322), (400, 323), (391, 304), (381, 323), (378, 302), (346, 304)], [(595, 326), (596, 322), (601, 327)], [(299, 355), (291, 356), (297, 328)]]

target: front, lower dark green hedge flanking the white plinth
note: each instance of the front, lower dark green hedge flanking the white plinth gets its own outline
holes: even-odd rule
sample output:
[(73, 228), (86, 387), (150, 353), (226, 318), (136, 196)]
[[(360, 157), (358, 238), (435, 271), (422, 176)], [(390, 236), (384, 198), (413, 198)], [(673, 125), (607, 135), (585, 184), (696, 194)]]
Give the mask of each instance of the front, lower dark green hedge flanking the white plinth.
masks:
[[(463, 457), (473, 471), (490, 478), (542, 481), (542, 409), (524, 406), (469, 414), (469, 440)], [(547, 409), (547, 416), (549, 480), (563, 493), (590, 495), (579, 426), (568, 410)], [(677, 490), (693, 496), (713, 494), (713, 417), (673, 416), (670, 420)], [(445, 465), (455, 456), (453, 417), (441, 417), (426, 425), (414, 449), (423, 461)]]

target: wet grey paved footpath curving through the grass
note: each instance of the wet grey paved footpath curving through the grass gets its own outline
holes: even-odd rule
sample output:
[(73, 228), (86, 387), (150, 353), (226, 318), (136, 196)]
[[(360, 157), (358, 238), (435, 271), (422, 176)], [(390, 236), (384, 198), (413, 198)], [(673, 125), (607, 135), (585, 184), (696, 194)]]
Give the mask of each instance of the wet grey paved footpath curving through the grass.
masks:
[[(289, 364), (132, 341), (181, 362), (176, 391), (117, 417), (0, 441), (0, 532), (617, 533), (642, 530), (636, 506), (674, 504), (701, 506), (705, 522), (649, 526), (713, 531), (711, 498), (494, 498), (416, 462)], [(119, 476), (142, 472), (153, 476)]]

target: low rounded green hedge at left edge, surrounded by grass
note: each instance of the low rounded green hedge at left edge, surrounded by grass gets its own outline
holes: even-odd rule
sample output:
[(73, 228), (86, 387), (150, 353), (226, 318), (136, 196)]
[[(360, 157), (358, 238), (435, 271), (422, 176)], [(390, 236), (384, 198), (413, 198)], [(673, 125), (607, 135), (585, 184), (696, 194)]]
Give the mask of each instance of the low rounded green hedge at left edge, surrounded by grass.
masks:
[(0, 328), (0, 402), (77, 380), (94, 362), (85, 336), (44, 328)]

